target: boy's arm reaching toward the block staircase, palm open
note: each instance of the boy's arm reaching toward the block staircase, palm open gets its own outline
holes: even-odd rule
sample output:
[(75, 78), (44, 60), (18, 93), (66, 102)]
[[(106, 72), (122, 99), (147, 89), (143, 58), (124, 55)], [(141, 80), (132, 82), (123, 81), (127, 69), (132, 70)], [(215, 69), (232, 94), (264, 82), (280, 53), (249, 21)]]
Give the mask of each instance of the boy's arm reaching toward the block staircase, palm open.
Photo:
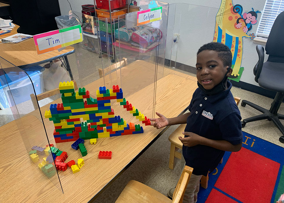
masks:
[(154, 121), (154, 123), (151, 123), (151, 125), (153, 125), (154, 128), (160, 129), (168, 125), (177, 125), (177, 124), (187, 123), (187, 117), (190, 115), (190, 112), (184, 113), (174, 118), (166, 118), (165, 116), (163, 116), (162, 114), (158, 112), (156, 112), (156, 114), (160, 118), (150, 118), (150, 121)]

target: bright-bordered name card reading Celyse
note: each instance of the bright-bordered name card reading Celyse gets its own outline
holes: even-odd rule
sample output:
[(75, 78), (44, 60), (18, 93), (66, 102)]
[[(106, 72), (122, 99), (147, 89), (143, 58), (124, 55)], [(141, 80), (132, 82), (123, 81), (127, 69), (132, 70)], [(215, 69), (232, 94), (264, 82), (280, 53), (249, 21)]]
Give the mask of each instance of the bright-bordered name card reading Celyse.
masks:
[(162, 19), (162, 6), (137, 12), (137, 23), (146, 24)]

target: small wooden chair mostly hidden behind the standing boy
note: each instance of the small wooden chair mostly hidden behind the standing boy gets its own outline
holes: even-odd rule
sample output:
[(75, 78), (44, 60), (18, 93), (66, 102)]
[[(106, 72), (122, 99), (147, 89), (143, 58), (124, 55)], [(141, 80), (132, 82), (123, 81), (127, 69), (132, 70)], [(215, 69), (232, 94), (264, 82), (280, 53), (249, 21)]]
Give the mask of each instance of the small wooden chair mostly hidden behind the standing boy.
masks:
[[(237, 106), (239, 105), (239, 102), (241, 98), (235, 97), (235, 102)], [(170, 161), (169, 161), (169, 168), (174, 168), (174, 157), (177, 157), (178, 159), (182, 159), (182, 154), (178, 152), (178, 149), (182, 149), (182, 142), (179, 140), (179, 136), (182, 135), (182, 132), (185, 129), (186, 124), (181, 124), (179, 127), (169, 136), (169, 141), (171, 142), (171, 149), (170, 149)], [(220, 161), (220, 164), (222, 164), (223, 159)], [(207, 188), (208, 186), (208, 174), (207, 176), (202, 176), (201, 178), (201, 187)]]

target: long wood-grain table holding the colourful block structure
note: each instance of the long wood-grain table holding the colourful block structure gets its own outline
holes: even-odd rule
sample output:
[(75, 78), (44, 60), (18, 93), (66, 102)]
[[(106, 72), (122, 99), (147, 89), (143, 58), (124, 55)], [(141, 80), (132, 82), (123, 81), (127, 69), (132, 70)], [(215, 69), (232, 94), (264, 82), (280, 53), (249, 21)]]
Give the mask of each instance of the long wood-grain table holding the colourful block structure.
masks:
[[(149, 67), (150, 66), (150, 67)], [(151, 68), (155, 65), (148, 62), (138, 61), (127, 65), (126, 69)], [(183, 74), (174, 73), (165, 68), (164, 77), (157, 81), (156, 105), (155, 110), (163, 113), (166, 117), (179, 115), (189, 105), (192, 94), (197, 87), (196, 78)], [(124, 72), (125, 74), (127, 71)], [(112, 73), (114, 74), (114, 73)], [(148, 72), (146, 73), (148, 74)], [(122, 74), (123, 75), (123, 74)], [(141, 76), (141, 75), (140, 75)], [(133, 75), (131, 75), (133, 78)], [(122, 78), (127, 79), (126, 77)], [(135, 78), (133, 79), (135, 80)], [(86, 90), (95, 95), (96, 89), (102, 84), (103, 78), (86, 85)], [(137, 109), (143, 109), (146, 116), (152, 114), (152, 108), (148, 108), (153, 95), (148, 94), (153, 89), (153, 84), (148, 83), (134, 94), (128, 95), (126, 99)], [(133, 88), (131, 85), (127, 88)], [(127, 90), (128, 91), (128, 90)], [(52, 103), (58, 103), (56, 100)], [(49, 105), (41, 108), (41, 113), (49, 108)], [(121, 106), (113, 105), (115, 115), (122, 115), (127, 123), (134, 118), (129, 112), (123, 110)], [(125, 113), (126, 112), (126, 113)], [(12, 121), (0, 127), (0, 199), (3, 202), (92, 202), (106, 187), (108, 187), (123, 171), (126, 170), (158, 137), (164, 129), (156, 129), (153, 126), (144, 126), (143, 134), (123, 135), (117, 137), (107, 137), (97, 139), (97, 144), (91, 145), (89, 140), (85, 140), (88, 155), (84, 156), (85, 165), (81, 171), (73, 174), (71, 169), (58, 171), (64, 194), (57, 189), (60, 184), (56, 175), (49, 181), (46, 176), (33, 164), (26, 150), (30, 150), (32, 142), (38, 146), (45, 146), (45, 130), (42, 122), (37, 119), (37, 111), (33, 111), (21, 120)], [(16, 123), (17, 122), (17, 123)], [(53, 123), (44, 119), (45, 128), (50, 143), (53, 139)], [(141, 123), (136, 120), (135, 123)], [(24, 142), (28, 145), (27, 149), (23, 145), (19, 130), (29, 130), (28, 135), (22, 134)], [(39, 136), (41, 135), (41, 136)], [(28, 139), (25, 138), (27, 136)], [(57, 143), (56, 147), (68, 153), (65, 162), (81, 157), (81, 153), (71, 149), (72, 142)], [(98, 159), (100, 150), (112, 151), (112, 159)], [(43, 157), (43, 156), (42, 156)], [(40, 163), (38, 161), (38, 163)], [(37, 164), (38, 164), (37, 163)]]

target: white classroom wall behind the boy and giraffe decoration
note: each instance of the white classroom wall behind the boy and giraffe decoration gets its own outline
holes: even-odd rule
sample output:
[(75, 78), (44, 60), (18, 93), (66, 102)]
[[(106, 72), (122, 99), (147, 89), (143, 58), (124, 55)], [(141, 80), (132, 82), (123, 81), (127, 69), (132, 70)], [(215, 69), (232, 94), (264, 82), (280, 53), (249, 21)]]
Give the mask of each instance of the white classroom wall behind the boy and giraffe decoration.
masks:
[[(169, 4), (176, 4), (177, 6), (170, 5), (169, 11), (169, 26), (167, 28), (167, 46), (166, 46), (166, 59), (175, 61), (177, 54), (177, 62), (195, 66), (196, 52), (203, 44), (213, 41), (215, 31), (216, 13), (220, 7), (221, 0), (162, 0)], [(73, 11), (81, 11), (81, 5), (94, 4), (93, 0), (69, 0)], [(186, 4), (194, 5), (186, 5)], [(255, 11), (262, 11), (264, 8), (265, 0), (234, 0), (233, 4), (241, 4), (243, 12), (249, 12), (252, 8)], [(67, 0), (59, 0), (61, 15), (68, 15), (70, 10)], [(258, 13), (257, 20), (260, 20), (261, 14)], [(253, 25), (249, 33), (256, 33), (257, 25)], [(179, 44), (172, 44), (172, 35), (175, 32), (180, 33)], [(243, 55), (242, 64), (244, 72), (241, 81), (253, 85), (258, 85), (254, 81), (253, 68), (258, 61), (256, 53), (256, 43), (253, 40), (243, 38)], [(172, 56), (172, 57), (171, 57)], [(267, 55), (265, 61), (267, 59)]]

